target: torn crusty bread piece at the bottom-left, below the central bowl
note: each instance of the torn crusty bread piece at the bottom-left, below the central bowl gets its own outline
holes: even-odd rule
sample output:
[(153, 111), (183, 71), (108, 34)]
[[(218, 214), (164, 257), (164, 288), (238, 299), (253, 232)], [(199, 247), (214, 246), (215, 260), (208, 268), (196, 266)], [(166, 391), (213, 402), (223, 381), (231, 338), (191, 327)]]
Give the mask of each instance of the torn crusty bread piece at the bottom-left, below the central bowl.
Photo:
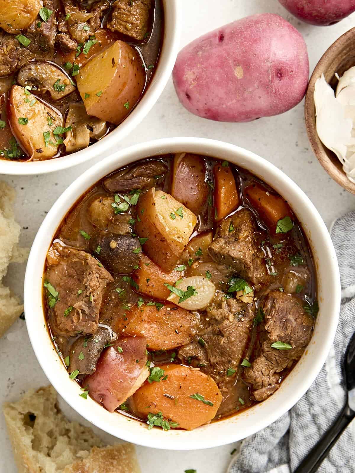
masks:
[(19, 473), (140, 473), (132, 444), (104, 447), (63, 416), (52, 386), (5, 403), (3, 412)]

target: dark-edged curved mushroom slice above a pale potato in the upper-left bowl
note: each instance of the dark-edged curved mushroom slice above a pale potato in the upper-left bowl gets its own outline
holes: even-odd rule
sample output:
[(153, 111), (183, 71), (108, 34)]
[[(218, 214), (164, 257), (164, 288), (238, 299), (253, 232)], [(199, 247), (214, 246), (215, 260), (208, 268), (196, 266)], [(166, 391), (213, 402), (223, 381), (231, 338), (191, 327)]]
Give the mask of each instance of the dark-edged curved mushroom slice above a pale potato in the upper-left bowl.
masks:
[(48, 92), (52, 100), (59, 100), (73, 90), (73, 81), (59, 67), (47, 61), (27, 62), (18, 72), (17, 83), (29, 86), (41, 95)]

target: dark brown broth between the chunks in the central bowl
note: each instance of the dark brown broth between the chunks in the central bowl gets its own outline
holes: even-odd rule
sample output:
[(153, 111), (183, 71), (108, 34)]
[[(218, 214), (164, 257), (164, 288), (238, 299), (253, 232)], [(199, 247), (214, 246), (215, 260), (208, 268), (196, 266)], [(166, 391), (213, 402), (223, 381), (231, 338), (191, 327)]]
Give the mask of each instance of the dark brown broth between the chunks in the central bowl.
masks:
[[(203, 158), (204, 158), (204, 163), (206, 165), (206, 180), (207, 179), (213, 180), (212, 168), (216, 163), (220, 163), (221, 160), (208, 158), (208, 157), (203, 157)], [(156, 156), (149, 159), (143, 159), (140, 162), (151, 161), (152, 159), (161, 160), (168, 166), (169, 172), (165, 175), (164, 179), (161, 182), (159, 182), (156, 188), (169, 193), (170, 186), (171, 186), (171, 170), (172, 170), (173, 155)], [(130, 166), (131, 165), (124, 166), (123, 168), (120, 168), (120, 169), (125, 169)], [(317, 296), (317, 280), (316, 280), (316, 273), (314, 270), (314, 264), (313, 264), (311, 250), (310, 250), (310, 245), (308, 244), (307, 238), (304, 235), (301, 223), (296, 218), (294, 218), (293, 219), (294, 227), (287, 234), (281, 234), (281, 235), (276, 235), (276, 236), (273, 234), (270, 234), (265, 224), (263, 223), (263, 221), (260, 219), (259, 215), (257, 214), (257, 211), (252, 208), (252, 206), (250, 205), (250, 203), (244, 196), (244, 189), (251, 182), (257, 182), (257, 183), (262, 184), (264, 187), (266, 187), (266, 189), (270, 193), (276, 194), (275, 191), (269, 185), (267, 185), (266, 183), (258, 179), (256, 176), (252, 175), (248, 170), (243, 169), (239, 166), (232, 165), (231, 163), (230, 163), (230, 166), (232, 168), (233, 175), (237, 183), (237, 188), (239, 190), (239, 197), (240, 197), (241, 205), (238, 209), (233, 210), (229, 216), (233, 215), (235, 212), (237, 212), (241, 208), (246, 207), (252, 210), (257, 221), (257, 232), (256, 232), (257, 242), (267, 256), (266, 264), (268, 264), (268, 261), (267, 261), (268, 259), (272, 261), (272, 264), (270, 264), (270, 268), (268, 272), (271, 274), (273, 273), (275, 274), (274, 276), (271, 276), (271, 282), (267, 286), (267, 288), (259, 290), (256, 294), (254, 294), (254, 296), (257, 299), (260, 299), (263, 297), (263, 295), (266, 292), (273, 289), (277, 290), (277, 289), (282, 288), (282, 280), (283, 280), (285, 272), (287, 272), (290, 268), (292, 269), (292, 266), (290, 266), (289, 255), (301, 253), (302, 256), (304, 256), (305, 265), (307, 267), (307, 270), (309, 271), (310, 278), (308, 282), (305, 284), (302, 291), (297, 294), (294, 293), (293, 296), (299, 300), (300, 305), (302, 306), (305, 304), (311, 305), (316, 300), (316, 296)], [(210, 194), (213, 195), (213, 191), (210, 191)], [(78, 199), (77, 202), (75, 202), (75, 204), (68, 211), (61, 225), (57, 229), (53, 240), (59, 239), (65, 245), (70, 245), (77, 249), (92, 253), (92, 248), (90, 248), (90, 241), (86, 240), (83, 236), (81, 236), (79, 231), (84, 230), (91, 237), (93, 237), (93, 239), (95, 238), (95, 235), (99, 230), (89, 221), (88, 216), (87, 216), (87, 209), (91, 201), (94, 198), (101, 195), (113, 195), (113, 194), (107, 193), (107, 191), (104, 189), (102, 185), (102, 181), (99, 181), (98, 183), (91, 186), (91, 188), (82, 197), (80, 197), (80, 199)], [(198, 219), (198, 223), (196, 226), (197, 229), (192, 234), (191, 238), (195, 236), (196, 234), (200, 233), (201, 232), (200, 229), (202, 229), (203, 231), (205, 231), (206, 229), (213, 230), (213, 234), (215, 233), (217, 226), (215, 223), (213, 223), (213, 219), (211, 217), (212, 212), (213, 212), (213, 205), (208, 206), (208, 215), (205, 216), (205, 221), (203, 221), (201, 218)], [(133, 208), (133, 206), (132, 206), (132, 215), (134, 218), (135, 209)], [(280, 244), (283, 244), (283, 246), (279, 247)], [(46, 269), (47, 268), (45, 267), (44, 280), (46, 279), (45, 278)], [(190, 274), (189, 274), (189, 268), (187, 268), (185, 276), (189, 276)], [(99, 323), (103, 323), (107, 325), (112, 324), (113, 321), (115, 320), (118, 320), (118, 319), (122, 320), (125, 315), (125, 311), (129, 310), (130, 307), (133, 307), (133, 305), (137, 303), (138, 297), (142, 297), (144, 303), (152, 300), (151, 298), (144, 296), (142, 294), (139, 294), (137, 291), (135, 291), (128, 282), (122, 280), (122, 276), (120, 276), (119, 274), (113, 274), (113, 276), (115, 278), (115, 281), (113, 283), (110, 283), (107, 287), (106, 297), (103, 299), (103, 304), (101, 306), (100, 315), (99, 315)], [(122, 296), (122, 294), (118, 294), (117, 291), (115, 291), (115, 288), (117, 286), (119, 286), (121, 289), (124, 289), (124, 297)], [(45, 318), (48, 324), (48, 330), (51, 333), (51, 336), (54, 337), (55, 334), (52, 333), (49, 320), (48, 320), (48, 307), (47, 307), (47, 297), (46, 297), (45, 290), (43, 292), (43, 304), (44, 304), (43, 307), (45, 307)], [(210, 322), (208, 321), (208, 317), (206, 316), (205, 312), (204, 311), (197, 311), (197, 312), (199, 313), (199, 317), (200, 317), (200, 330), (202, 328), (208, 327)], [(256, 338), (253, 339), (254, 342), (253, 343), (250, 342), (250, 350), (253, 350), (253, 346), (255, 346), (257, 335), (255, 336)], [(74, 337), (58, 337), (54, 339), (54, 345), (58, 353), (62, 353), (62, 359), (65, 358), (69, 354), (71, 344), (75, 341), (75, 339), (76, 338)], [(149, 359), (151, 361), (155, 361), (160, 364), (179, 363), (179, 361), (177, 360), (177, 356), (175, 357), (175, 359), (172, 359), (172, 354), (174, 352), (177, 354), (177, 350), (178, 348), (175, 350), (167, 350), (167, 351), (163, 350), (160, 352), (150, 351)], [(244, 353), (244, 357), (246, 356), (247, 356), (247, 353)], [(252, 351), (251, 353), (248, 353), (248, 358), (252, 359)], [(284, 377), (286, 377), (290, 373), (295, 363), (296, 362), (293, 362), (293, 365), (291, 368), (285, 369), (283, 372), (280, 373), (280, 381), (284, 379)], [(190, 360), (189, 364), (191, 364), (191, 366), (194, 366), (193, 360)], [(239, 367), (238, 369), (240, 370), (240, 368), (241, 367)], [(204, 368), (201, 368), (201, 370), (204, 371)], [(77, 379), (78, 382), (81, 382), (84, 376), (85, 375), (81, 377), (79, 375)], [(237, 401), (239, 398), (242, 398), (244, 400), (243, 405), (240, 405), (240, 403)], [(227, 415), (228, 416), (234, 415), (236, 412), (245, 410), (256, 403), (256, 401), (250, 396), (249, 386), (247, 385), (247, 383), (245, 383), (241, 379), (241, 377), (238, 380), (238, 382), (236, 382), (235, 386), (233, 386), (232, 391), (231, 391), (231, 399), (228, 400), (228, 403), (226, 402), (227, 399), (228, 399), (228, 396), (222, 402), (221, 407), (219, 411), (217, 412), (217, 415), (214, 420), (219, 420), (221, 418), (224, 418)], [(131, 414), (132, 412), (130, 413), (130, 415)]]

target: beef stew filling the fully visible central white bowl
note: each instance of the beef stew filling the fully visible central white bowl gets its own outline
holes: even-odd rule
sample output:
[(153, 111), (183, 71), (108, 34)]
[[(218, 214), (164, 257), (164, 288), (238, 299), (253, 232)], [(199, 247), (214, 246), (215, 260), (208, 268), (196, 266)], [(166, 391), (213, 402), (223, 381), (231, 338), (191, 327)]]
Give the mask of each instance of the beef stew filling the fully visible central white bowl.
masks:
[(48, 251), (44, 307), (82, 397), (190, 430), (280, 388), (311, 340), (317, 280), (287, 201), (239, 166), (178, 153), (75, 203)]

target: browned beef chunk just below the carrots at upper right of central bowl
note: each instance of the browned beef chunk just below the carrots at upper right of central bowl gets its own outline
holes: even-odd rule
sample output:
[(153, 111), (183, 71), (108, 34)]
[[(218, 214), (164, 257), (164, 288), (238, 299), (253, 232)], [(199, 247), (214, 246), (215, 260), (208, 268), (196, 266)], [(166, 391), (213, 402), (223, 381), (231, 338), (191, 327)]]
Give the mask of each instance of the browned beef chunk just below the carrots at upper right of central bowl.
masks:
[(269, 275), (264, 254), (257, 246), (256, 231), (252, 212), (242, 209), (223, 220), (208, 251), (213, 261), (229, 265), (231, 272), (251, 281), (258, 289), (268, 284)]

